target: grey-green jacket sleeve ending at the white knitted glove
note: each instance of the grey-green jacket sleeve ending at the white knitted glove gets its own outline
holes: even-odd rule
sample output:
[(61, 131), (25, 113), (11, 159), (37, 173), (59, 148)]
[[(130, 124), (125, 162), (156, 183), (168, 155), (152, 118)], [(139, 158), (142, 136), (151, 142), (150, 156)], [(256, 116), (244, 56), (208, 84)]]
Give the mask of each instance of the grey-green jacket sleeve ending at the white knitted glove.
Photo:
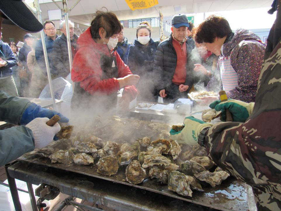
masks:
[(0, 166), (32, 150), (34, 150), (34, 137), (29, 128), (15, 126), (0, 131)]

